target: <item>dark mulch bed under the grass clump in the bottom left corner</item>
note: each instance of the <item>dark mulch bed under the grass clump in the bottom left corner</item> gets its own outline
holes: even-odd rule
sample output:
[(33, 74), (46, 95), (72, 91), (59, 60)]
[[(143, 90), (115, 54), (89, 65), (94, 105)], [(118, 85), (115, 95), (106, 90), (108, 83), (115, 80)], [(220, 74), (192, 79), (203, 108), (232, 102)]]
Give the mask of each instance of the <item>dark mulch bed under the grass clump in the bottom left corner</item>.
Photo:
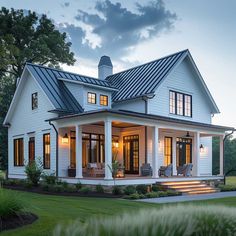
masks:
[(8, 218), (0, 217), (0, 232), (32, 224), (37, 219), (38, 217), (32, 213), (21, 213), (19, 215), (10, 216)]

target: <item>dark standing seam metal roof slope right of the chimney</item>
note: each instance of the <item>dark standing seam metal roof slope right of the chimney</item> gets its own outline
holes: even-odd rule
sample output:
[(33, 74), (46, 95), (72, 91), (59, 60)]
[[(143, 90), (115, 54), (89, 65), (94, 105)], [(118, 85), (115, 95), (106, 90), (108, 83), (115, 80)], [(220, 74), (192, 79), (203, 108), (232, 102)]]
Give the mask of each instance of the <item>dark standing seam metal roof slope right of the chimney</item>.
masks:
[(108, 76), (107, 81), (119, 90), (113, 92), (112, 100), (122, 101), (153, 94), (159, 83), (166, 77), (188, 50), (131, 68)]

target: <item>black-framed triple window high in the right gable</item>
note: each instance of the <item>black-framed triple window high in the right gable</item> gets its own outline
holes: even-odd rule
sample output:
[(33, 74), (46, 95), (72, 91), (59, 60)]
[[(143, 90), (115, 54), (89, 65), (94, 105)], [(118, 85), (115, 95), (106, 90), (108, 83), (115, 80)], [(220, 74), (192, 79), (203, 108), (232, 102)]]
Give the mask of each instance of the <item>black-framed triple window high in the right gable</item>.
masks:
[(171, 114), (192, 117), (192, 96), (170, 91), (169, 111)]

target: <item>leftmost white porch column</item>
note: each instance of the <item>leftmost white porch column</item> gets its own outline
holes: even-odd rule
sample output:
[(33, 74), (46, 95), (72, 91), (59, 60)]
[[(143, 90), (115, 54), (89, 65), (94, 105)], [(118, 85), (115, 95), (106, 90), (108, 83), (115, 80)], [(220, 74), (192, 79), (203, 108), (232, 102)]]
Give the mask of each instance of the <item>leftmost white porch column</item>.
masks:
[(82, 169), (82, 126), (76, 125), (75, 127), (75, 153), (76, 153), (76, 178), (83, 178)]

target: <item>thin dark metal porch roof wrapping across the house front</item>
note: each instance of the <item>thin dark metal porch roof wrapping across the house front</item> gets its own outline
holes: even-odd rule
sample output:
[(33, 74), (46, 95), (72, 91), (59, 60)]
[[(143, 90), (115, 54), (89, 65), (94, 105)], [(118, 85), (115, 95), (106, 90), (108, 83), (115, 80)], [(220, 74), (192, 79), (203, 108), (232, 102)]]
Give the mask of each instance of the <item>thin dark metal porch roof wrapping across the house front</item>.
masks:
[(87, 111), (87, 112), (77, 113), (77, 114), (72, 114), (72, 115), (63, 115), (60, 117), (48, 119), (46, 121), (57, 121), (57, 120), (70, 119), (70, 118), (81, 117), (81, 116), (92, 116), (94, 114), (102, 114), (102, 113), (103, 114), (107, 113), (110, 115), (114, 114), (114, 115), (138, 117), (138, 118), (143, 118), (143, 119), (151, 119), (151, 120), (156, 120), (156, 121), (170, 122), (170, 123), (177, 123), (177, 124), (184, 124), (184, 125), (191, 125), (191, 126), (196, 126), (200, 128), (210, 128), (210, 129), (217, 129), (221, 131), (236, 131), (234, 127), (212, 125), (212, 124), (189, 121), (189, 120), (181, 120), (181, 119), (172, 118), (172, 117), (145, 114), (145, 113), (140, 113), (140, 112), (126, 111), (126, 110), (114, 110), (114, 109), (92, 110), (92, 111)]

